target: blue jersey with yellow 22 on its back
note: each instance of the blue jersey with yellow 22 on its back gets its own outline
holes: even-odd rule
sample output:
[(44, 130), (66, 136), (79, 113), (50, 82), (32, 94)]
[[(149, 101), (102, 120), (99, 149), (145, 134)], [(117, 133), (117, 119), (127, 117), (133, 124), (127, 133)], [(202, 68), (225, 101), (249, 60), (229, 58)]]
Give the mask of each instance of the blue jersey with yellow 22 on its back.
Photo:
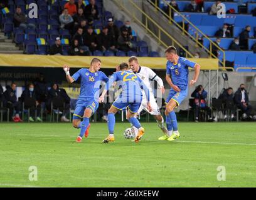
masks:
[(127, 97), (129, 99), (134, 98), (137, 99), (139, 96), (140, 99), (142, 97), (141, 88), (144, 89), (147, 97), (147, 101), (149, 101), (149, 89), (143, 83), (143, 81), (136, 76), (136, 74), (131, 71), (118, 71), (114, 73), (110, 78), (109, 82), (106, 85), (107, 90), (117, 81), (117, 84), (122, 87), (122, 93), (120, 94), (123, 98)]

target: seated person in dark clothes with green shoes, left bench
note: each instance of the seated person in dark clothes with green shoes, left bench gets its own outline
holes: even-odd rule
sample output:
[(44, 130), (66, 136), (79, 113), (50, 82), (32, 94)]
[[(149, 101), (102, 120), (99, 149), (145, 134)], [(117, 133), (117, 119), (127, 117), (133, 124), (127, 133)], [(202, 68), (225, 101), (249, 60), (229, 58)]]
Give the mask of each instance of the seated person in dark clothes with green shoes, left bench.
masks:
[[(28, 98), (32, 98), (36, 101), (36, 92), (34, 89), (34, 84), (31, 83), (28, 85), (28, 87), (23, 91), (23, 93), (21, 94), (21, 102), (24, 103), (25, 99)], [(28, 108), (24, 108), (24, 109), (28, 109)], [(29, 121), (42, 121), (42, 119), (40, 118), (40, 114), (41, 114), (41, 104), (36, 101), (36, 105), (33, 108), (30, 108), (30, 117), (29, 117)], [(33, 119), (33, 117), (35, 116), (35, 111), (36, 111), (36, 119)]]

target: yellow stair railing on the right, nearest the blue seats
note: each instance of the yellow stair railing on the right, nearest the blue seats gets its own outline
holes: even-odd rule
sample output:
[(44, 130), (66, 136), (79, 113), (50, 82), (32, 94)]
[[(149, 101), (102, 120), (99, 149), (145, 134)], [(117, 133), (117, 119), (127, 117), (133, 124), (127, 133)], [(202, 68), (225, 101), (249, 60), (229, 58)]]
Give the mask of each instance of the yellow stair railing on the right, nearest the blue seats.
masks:
[[(169, 23), (172, 24), (174, 23), (176, 26), (179, 27), (179, 29), (181, 29), (183, 31), (183, 34), (187, 34), (189, 37), (191, 37), (191, 39), (193, 39), (193, 41), (195, 41), (196, 43), (196, 47), (200, 46), (201, 48), (205, 49), (205, 51), (210, 55), (210, 58), (216, 58), (220, 61), (221, 65), (223, 67), (220, 67), (220, 69), (224, 69), (225, 68), (225, 51), (223, 51), (223, 49), (221, 49), (219, 46), (217, 46), (215, 44), (215, 42), (213, 42), (208, 36), (206, 36), (206, 34), (204, 34), (202, 31), (200, 31), (200, 29), (198, 29), (198, 27), (196, 27), (191, 21), (189, 21), (186, 17), (183, 16), (183, 14), (181, 14), (179, 11), (177, 11), (175, 8), (173, 8), (173, 6), (171, 6), (168, 2), (166, 2), (166, 0), (163, 0), (164, 4), (168, 5), (168, 10), (169, 10), (169, 14), (166, 14), (166, 12), (164, 12), (161, 8), (159, 8), (158, 6), (158, 1), (155, 0), (154, 2), (152, 1), (147, 1), (149, 2), (152, 6), (154, 6), (154, 8), (156, 9), (156, 11), (161, 12), (164, 16), (166, 16), (169, 19)], [(176, 12), (178, 14), (178, 16), (182, 17), (182, 26), (174, 21), (173, 17), (172, 17), (172, 13)], [(193, 27), (193, 29), (195, 29), (195, 36), (193, 36), (192, 34), (190, 34), (188, 31), (186, 31), (185, 29), (185, 23), (188, 23), (189, 26)], [(199, 41), (199, 36), (203, 36), (204, 39), (206, 39), (209, 43), (210, 43), (210, 48), (206, 48), (205, 46), (203, 46), (203, 44)], [(215, 56), (212, 53), (212, 48), (213, 46), (215, 46), (219, 51), (221, 51), (221, 53), (223, 53), (223, 59), (221, 60), (220, 58), (218, 58), (218, 56)]]

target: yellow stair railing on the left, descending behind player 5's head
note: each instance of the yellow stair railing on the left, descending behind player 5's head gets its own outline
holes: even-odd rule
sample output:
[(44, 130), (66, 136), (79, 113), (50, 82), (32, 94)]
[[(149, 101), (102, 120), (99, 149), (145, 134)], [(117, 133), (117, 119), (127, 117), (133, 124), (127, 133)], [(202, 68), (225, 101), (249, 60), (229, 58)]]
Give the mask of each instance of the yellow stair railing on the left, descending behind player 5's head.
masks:
[[(132, 8), (132, 11), (128, 10), (125, 5), (124, 5), (124, 2), (122, 0), (114, 0), (114, 2), (120, 6), (120, 8), (127, 12), (127, 14), (129, 14), (132, 19), (134, 21), (136, 21), (138, 24), (140, 24), (142, 27), (144, 27), (144, 29), (146, 29), (147, 32), (149, 32), (157, 41), (159, 44), (163, 45), (164, 47), (168, 47), (169, 44), (166, 44), (163, 40), (162, 40), (162, 37), (168, 37), (170, 40), (171, 40), (171, 45), (173, 46), (178, 46), (180, 47), (181, 49), (183, 49), (185, 55), (186, 55), (186, 58), (188, 57), (191, 57), (191, 58), (194, 58), (193, 54), (191, 54), (186, 48), (184, 48), (182, 46), (181, 43), (179, 43), (176, 39), (174, 39), (174, 37), (172, 37), (168, 32), (166, 32), (163, 27), (159, 26), (159, 24), (154, 21), (154, 19), (152, 19), (150, 16), (148, 16), (146, 14), (146, 12), (142, 11), (141, 8), (139, 8), (139, 6), (137, 6), (136, 3), (134, 3), (132, 0), (127, 0), (125, 1), (125, 4), (129, 4), (129, 6), (131, 6)], [(144, 18), (143, 21), (141, 21), (139, 19), (139, 17), (136, 16), (136, 13), (139, 13), (142, 15), (142, 18)], [(149, 29), (149, 22), (151, 22), (151, 24), (154, 24), (154, 27), (157, 28), (157, 34), (155, 34), (153, 31), (151, 31), (151, 29)]]

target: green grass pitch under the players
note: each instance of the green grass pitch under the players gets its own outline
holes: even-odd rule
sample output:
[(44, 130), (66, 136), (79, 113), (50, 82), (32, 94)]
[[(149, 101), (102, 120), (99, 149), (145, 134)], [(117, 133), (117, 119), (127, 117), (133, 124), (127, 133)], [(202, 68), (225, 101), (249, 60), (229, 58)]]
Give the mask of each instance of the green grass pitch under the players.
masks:
[[(255, 123), (180, 123), (181, 138), (157, 141), (155, 123), (140, 143), (101, 143), (107, 124), (97, 123), (82, 143), (72, 124), (0, 124), (0, 187), (255, 187)], [(38, 181), (29, 181), (29, 166)], [(226, 181), (217, 180), (224, 166)]]

